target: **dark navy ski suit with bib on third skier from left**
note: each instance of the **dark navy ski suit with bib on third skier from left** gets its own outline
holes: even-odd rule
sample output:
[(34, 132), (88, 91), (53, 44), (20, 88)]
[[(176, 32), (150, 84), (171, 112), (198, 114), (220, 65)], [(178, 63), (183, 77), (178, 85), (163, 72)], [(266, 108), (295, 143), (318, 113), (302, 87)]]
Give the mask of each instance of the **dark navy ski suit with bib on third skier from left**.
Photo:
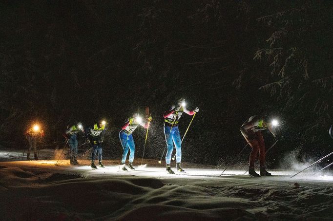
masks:
[(95, 160), (95, 156), (98, 155), (98, 160), (102, 161), (102, 143), (104, 140), (105, 125), (101, 128), (98, 127), (98, 124), (95, 124), (94, 127), (88, 127), (85, 129), (85, 137), (89, 139), (90, 144), (93, 148), (91, 154), (91, 161)]

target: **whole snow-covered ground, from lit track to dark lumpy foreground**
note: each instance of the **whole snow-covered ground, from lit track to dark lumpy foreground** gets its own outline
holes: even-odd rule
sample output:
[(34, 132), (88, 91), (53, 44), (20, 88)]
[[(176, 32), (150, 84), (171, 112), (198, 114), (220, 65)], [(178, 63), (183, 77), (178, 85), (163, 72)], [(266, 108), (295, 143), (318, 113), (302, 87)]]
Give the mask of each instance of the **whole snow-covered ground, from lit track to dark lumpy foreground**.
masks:
[[(89, 161), (0, 163), (0, 220), (332, 220), (333, 176), (245, 171), (184, 164), (169, 175), (156, 160), (136, 171), (118, 161), (92, 170)], [(140, 160), (136, 162), (140, 165)], [(199, 168), (200, 167), (200, 168)], [(300, 186), (297, 188), (298, 183)]]

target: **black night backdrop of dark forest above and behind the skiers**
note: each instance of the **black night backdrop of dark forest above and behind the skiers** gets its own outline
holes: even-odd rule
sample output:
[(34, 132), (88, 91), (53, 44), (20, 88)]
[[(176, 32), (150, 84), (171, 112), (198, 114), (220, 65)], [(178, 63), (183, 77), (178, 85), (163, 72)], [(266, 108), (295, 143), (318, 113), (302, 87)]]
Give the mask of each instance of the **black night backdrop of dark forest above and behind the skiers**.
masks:
[(332, 147), (332, 24), (330, 0), (1, 1), (0, 145), (26, 145), (39, 122), (52, 147), (68, 124), (105, 119), (104, 158), (118, 159), (124, 120), (148, 106), (146, 157), (158, 159), (162, 114), (185, 98), (200, 112), (183, 161), (229, 161), (246, 144), (240, 126), (261, 114), (282, 123), (268, 164), (291, 150), (321, 156)]

